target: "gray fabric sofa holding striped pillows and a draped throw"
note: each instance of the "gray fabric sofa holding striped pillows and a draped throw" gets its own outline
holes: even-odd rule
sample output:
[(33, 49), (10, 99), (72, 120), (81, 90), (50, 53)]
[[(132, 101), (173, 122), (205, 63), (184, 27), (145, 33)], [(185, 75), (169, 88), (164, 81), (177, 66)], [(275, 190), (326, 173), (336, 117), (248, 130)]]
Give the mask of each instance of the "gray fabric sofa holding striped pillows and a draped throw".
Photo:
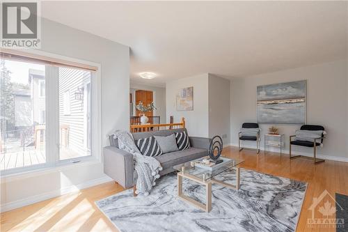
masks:
[[(168, 136), (174, 132), (182, 132), (186, 129), (175, 130), (159, 130), (155, 132), (139, 132), (133, 133), (134, 140), (150, 137), (152, 135)], [(129, 188), (134, 185), (134, 166), (133, 155), (118, 149), (117, 139), (113, 139), (113, 136), (109, 137), (110, 146), (104, 147), (104, 173), (110, 176), (122, 187)], [(186, 150), (177, 150), (171, 153), (164, 153), (155, 157), (163, 168), (159, 172), (161, 176), (175, 171), (173, 166), (181, 164), (183, 162), (189, 162), (191, 160), (198, 159), (208, 155), (208, 148), (210, 139), (202, 137), (189, 137), (191, 148)]]

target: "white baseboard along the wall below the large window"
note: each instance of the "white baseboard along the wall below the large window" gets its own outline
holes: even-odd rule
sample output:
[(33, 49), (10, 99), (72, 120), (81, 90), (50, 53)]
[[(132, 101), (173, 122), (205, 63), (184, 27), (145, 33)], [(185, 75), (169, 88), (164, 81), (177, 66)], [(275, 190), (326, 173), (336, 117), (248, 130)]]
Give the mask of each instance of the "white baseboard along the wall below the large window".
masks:
[(83, 190), (86, 189), (87, 187), (92, 187), (95, 185), (100, 185), (102, 183), (106, 183), (111, 181), (112, 179), (109, 178), (109, 176), (104, 176), (102, 178), (99, 179), (94, 179), (94, 180), (88, 180), (85, 183), (81, 183), (79, 185), (72, 185), (69, 187), (63, 187), (60, 190), (54, 190), (52, 192), (45, 192), (43, 194), (38, 194), (35, 196), (30, 196), (27, 197), (26, 199), (20, 199), (18, 201), (12, 201), (12, 202), (8, 202), (8, 203), (4, 203), (0, 206), (0, 212), (6, 212), (9, 210), (14, 210), (15, 208), (20, 208), (23, 206), (29, 206), (33, 203), (37, 203), (40, 201), (45, 201), (47, 199), (52, 199), (56, 196), (61, 196), (64, 194), (70, 194), (73, 192), (79, 192), (79, 190)]

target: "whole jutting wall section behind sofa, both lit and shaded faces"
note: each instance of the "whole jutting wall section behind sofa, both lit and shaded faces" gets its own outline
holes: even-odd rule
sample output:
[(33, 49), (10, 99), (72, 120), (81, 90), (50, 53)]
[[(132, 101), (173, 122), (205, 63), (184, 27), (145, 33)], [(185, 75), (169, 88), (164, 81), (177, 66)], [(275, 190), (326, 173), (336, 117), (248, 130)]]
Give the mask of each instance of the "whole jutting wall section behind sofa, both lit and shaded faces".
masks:
[[(193, 86), (193, 111), (176, 111), (176, 95), (180, 88)], [(230, 144), (230, 80), (212, 74), (177, 79), (166, 84), (167, 117), (186, 120), (190, 136), (220, 135)], [(225, 136), (223, 136), (225, 135)]]

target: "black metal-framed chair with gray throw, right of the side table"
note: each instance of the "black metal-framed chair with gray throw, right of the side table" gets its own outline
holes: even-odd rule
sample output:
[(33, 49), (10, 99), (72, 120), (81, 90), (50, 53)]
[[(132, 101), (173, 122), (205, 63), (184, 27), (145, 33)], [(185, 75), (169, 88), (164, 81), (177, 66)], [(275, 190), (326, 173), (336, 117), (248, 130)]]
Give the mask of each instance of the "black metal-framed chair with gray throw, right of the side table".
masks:
[[(302, 125), (300, 130), (325, 130), (322, 125)], [(315, 138), (313, 141), (299, 141), (299, 140), (292, 140), (293, 137), (296, 137), (296, 135), (290, 135), (290, 147), (289, 147), (289, 153), (290, 153), (290, 160), (299, 158), (299, 157), (306, 157), (303, 155), (294, 155), (291, 156), (291, 146), (306, 146), (308, 148), (313, 148), (313, 158), (312, 157), (306, 157), (310, 159), (314, 159), (314, 163), (317, 164), (319, 162), (324, 162), (325, 160), (317, 159), (317, 146), (320, 146), (320, 143), (318, 143), (318, 140), (321, 140), (323, 142), (324, 140), (324, 134), (322, 134), (322, 137)]]

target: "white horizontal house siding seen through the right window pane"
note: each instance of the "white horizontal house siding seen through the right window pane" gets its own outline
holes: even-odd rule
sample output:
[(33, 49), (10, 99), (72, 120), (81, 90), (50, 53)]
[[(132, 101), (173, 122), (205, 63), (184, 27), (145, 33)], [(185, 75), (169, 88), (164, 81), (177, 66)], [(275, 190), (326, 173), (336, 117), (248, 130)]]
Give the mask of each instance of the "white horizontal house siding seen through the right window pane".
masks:
[[(69, 132), (61, 130), (61, 143), (63, 146), (77, 153), (88, 152), (86, 144), (86, 89), (90, 83), (90, 72), (71, 68), (59, 68), (59, 122), (60, 127), (68, 125)], [(64, 95), (69, 91), (70, 113), (64, 110)], [(75, 93), (84, 93), (83, 100), (75, 99)], [(66, 133), (66, 134), (65, 134)], [(68, 144), (64, 144), (63, 138), (68, 137)]]

